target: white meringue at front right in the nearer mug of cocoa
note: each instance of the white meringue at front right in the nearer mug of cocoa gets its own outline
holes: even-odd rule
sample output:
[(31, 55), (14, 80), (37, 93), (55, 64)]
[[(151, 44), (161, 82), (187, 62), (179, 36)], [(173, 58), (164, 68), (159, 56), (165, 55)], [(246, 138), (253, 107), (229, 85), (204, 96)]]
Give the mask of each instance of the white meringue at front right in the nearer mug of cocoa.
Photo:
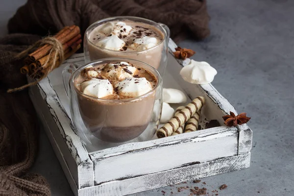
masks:
[(127, 77), (117, 83), (115, 88), (120, 96), (135, 98), (152, 90), (152, 86), (145, 77)]

